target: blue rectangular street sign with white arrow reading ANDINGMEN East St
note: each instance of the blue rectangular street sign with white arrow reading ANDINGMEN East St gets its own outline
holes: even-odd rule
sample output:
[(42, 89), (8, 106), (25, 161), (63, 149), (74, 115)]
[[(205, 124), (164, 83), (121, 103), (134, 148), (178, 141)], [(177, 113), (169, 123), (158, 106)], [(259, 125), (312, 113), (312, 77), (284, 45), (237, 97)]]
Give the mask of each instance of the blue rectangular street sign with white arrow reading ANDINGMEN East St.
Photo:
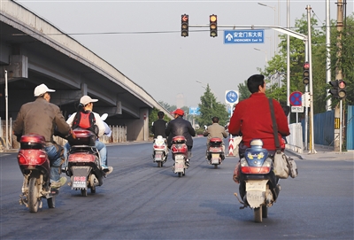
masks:
[(265, 43), (265, 30), (225, 30), (224, 43)]

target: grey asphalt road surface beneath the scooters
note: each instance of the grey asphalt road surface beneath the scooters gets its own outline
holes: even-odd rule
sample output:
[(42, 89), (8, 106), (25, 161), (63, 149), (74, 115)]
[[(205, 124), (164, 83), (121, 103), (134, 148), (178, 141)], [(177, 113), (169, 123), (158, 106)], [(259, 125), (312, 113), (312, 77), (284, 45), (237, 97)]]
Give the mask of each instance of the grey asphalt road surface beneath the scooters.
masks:
[(170, 159), (158, 168), (152, 143), (108, 147), (114, 171), (81, 197), (61, 188), (56, 208), (38, 213), (19, 205), (22, 175), (16, 153), (1, 153), (0, 239), (353, 239), (353, 160), (296, 159), (299, 175), (281, 180), (268, 218), (255, 223), (241, 206), (232, 175), (238, 159), (218, 169), (204, 159), (196, 138), (186, 175)]

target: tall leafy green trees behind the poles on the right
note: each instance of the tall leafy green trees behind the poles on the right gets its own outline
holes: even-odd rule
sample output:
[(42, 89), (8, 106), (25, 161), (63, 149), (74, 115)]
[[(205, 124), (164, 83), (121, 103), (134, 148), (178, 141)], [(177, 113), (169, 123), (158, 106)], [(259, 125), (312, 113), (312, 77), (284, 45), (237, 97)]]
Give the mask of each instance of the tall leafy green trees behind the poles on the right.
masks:
[[(331, 81), (335, 80), (337, 69), (342, 70), (343, 80), (347, 83), (347, 105), (354, 105), (354, 18), (353, 14), (345, 20), (345, 27), (342, 33), (339, 33), (335, 27), (336, 22), (331, 22)], [(296, 32), (308, 34), (307, 18), (296, 19)], [(326, 27), (316, 27), (317, 20), (311, 19), (312, 26), (312, 90), (313, 90), (313, 112), (326, 111), (326, 98), (328, 92), (327, 76), (327, 45), (326, 45)], [(340, 37), (339, 37), (340, 36)], [(290, 56), (290, 93), (293, 91), (305, 91), (303, 83), (303, 67), (305, 62), (304, 42), (295, 37), (290, 37), (289, 56)], [(275, 55), (267, 62), (265, 69), (258, 68), (260, 74), (266, 77), (266, 95), (273, 97), (285, 105), (287, 99), (287, 35), (281, 35), (279, 44), (280, 54)], [(341, 51), (339, 51), (341, 50)], [(341, 54), (338, 54), (340, 52)], [(280, 86), (281, 87), (280, 87)], [(239, 84), (240, 100), (250, 95), (247, 89), (247, 81)], [(333, 107), (338, 104), (338, 100), (332, 99)], [(294, 114), (293, 114), (294, 115)], [(291, 116), (291, 115), (290, 115)], [(300, 118), (304, 117), (300, 113)], [(294, 118), (294, 117), (293, 117)], [(294, 121), (294, 119), (292, 119)]]

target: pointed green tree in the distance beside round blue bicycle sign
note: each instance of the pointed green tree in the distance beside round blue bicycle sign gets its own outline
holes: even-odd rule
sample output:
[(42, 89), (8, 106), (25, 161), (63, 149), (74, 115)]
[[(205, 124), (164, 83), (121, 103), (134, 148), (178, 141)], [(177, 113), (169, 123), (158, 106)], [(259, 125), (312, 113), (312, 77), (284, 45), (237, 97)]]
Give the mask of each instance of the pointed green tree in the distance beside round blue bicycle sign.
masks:
[(219, 124), (225, 125), (228, 121), (228, 112), (226, 105), (216, 101), (216, 97), (212, 93), (209, 84), (206, 86), (204, 95), (200, 97), (199, 104), (200, 116), (196, 117), (199, 126), (212, 124), (212, 117), (219, 117)]

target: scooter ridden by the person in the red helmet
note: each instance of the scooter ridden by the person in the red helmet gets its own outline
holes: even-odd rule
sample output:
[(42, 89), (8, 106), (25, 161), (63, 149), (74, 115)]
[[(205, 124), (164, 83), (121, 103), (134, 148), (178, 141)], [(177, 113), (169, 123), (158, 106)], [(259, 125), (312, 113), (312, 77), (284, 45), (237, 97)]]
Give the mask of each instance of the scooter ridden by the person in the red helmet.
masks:
[(186, 174), (186, 161), (188, 159), (187, 140), (183, 135), (176, 135), (172, 139), (171, 152), (174, 160), (173, 173), (179, 177)]

